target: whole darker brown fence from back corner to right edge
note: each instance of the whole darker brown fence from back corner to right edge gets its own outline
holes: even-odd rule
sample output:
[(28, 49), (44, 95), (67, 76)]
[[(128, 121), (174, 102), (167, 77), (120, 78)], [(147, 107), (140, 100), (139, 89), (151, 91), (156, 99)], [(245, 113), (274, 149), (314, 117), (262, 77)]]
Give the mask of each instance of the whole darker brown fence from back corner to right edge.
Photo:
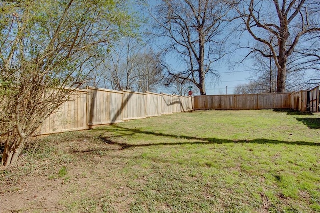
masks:
[(206, 95), (194, 97), (194, 110), (220, 109), (294, 109), (320, 111), (320, 86), (311, 90), (286, 93), (245, 95)]

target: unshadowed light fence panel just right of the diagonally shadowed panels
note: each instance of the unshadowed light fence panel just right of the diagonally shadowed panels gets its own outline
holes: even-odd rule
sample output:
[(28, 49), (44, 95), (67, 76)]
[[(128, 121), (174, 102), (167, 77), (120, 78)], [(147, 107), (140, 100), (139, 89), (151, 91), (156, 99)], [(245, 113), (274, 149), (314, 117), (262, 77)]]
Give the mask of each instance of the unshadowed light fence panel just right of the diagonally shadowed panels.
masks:
[(160, 116), (161, 115), (161, 101), (162, 96), (158, 93), (146, 92), (146, 116)]

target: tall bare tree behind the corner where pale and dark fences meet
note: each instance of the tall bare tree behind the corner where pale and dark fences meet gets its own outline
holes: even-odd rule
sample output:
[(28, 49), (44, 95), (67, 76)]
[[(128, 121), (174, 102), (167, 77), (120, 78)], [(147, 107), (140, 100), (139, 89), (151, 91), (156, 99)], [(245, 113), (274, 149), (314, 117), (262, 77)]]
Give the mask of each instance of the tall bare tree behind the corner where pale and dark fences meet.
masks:
[(159, 25), (157, 35), (168, 41), (168, 53), (176, 54), (187, 67), (184, 71), (168, 68), (172, 82), (177, 78), (190, 81), (201, 95), (206, 94), (206, 75), (218, 77), (212, 64), (225, 55), (220, 35), (228, 12), (229, 6), (224, 1), (165, 0), (157, 6), (157, 15), (153, 16)]

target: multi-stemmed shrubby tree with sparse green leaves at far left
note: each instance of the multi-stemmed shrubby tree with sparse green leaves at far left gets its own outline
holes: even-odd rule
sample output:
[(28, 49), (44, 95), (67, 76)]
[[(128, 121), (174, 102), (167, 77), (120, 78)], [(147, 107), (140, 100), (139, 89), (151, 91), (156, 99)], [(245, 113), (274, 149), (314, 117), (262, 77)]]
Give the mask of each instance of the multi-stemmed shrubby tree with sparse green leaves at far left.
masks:
[(124, 9), (121, 1), (1, 1), (3, 165), (16, 164), (41, 123), (132, 29)]

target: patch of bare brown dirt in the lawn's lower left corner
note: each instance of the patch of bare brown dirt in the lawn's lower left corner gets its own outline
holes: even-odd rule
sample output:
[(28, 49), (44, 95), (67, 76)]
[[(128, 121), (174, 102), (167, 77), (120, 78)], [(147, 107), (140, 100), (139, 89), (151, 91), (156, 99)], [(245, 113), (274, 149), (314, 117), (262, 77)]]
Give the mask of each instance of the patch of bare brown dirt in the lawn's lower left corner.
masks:
[[(125, 166), (114, 157), (122, 155), (121, 146), (99, 140), (50, 143), (46, 147), (55, 149), (47, 157), (36, 159), (35, 155), (31, 160), (31, 155), (24, 155), (17, 167), (1, 167), (1, 213), (72, 212), (77, 208), (107, 212), (107, 197), (113, 200), (113, 212), (126, 212), (123, 207), (129, 205), (129, 194), (134, 192), (123, 184), (125, 177), (114, 174)], [(63, 167), (65, 175), (59, 174)]]

